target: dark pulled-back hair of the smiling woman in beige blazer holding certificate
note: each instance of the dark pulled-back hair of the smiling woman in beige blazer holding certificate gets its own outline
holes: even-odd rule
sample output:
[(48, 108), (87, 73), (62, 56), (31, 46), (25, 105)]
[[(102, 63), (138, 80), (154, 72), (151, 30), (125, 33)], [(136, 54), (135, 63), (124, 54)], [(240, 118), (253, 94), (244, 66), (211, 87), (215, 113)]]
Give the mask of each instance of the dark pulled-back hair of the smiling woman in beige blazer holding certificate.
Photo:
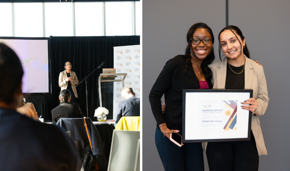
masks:
[[(245, 39), (245, 37), (243, 36), (243, 33), (241, 32), (241, 30), (237, 26), (227, 26), (227, 27), (223, 28), (222, 31), (220, 31), (220, 33), (224, 32), (225, 30), (231, 30), (231, 32), (235, 31), (241, 37), (241, 40)], [(235, 34), (235, 32), (233, 32), (233, 34)], [(235, 36), (239, 40), (239, 38), (237, 37), (236, 34), (235, 34)], [(218, 55), (220, 56), (220, 60), (222, 60), (222, 58), (221, 58), (222, 46), (220, 45), (220, 34), (218, 34), (218, 42), (219, 42), (219, 44), (218, 44)], [(240, 40), (239, 40), (239, 42), (240, 42)], [(240, 42), (240, 45), (241, 45), (241, 52), (242, 52), (242, 44), (241, 44), (241, 42)], [(241, 52), (240, 52), (240, 54), (241, 54)], [(251, 59), (250, 58), (250, 52), (249, 52), (249, 49), (247, 47), (246, 42), (245, 42), (245, 47), (244, 47), (243, 52), (244, 52), (244, 55), (246, 55), (249, 59)]]

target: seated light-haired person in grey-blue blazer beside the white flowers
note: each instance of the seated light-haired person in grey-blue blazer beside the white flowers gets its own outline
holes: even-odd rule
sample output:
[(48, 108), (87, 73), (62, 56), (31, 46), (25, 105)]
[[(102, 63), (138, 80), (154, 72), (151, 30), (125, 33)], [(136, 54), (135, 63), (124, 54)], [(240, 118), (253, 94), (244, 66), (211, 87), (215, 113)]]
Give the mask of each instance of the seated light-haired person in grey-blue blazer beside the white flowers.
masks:
[(135, 97), (133, 89), (128, 86), (124, 87), (121, 94), (124, 100), (117, 106), (115, 126), (123, 116), (140, 116), (140, 98)]

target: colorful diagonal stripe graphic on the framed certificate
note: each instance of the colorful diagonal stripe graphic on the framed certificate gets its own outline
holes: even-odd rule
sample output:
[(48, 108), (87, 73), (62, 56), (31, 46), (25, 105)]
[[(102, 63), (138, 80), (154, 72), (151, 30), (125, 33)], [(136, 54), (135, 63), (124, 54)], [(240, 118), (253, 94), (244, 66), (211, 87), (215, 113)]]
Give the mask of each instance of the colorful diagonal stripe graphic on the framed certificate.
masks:
[[(225, 106), (229, 109), (228, 114), (231, 115), (230, 118), (228, 119), (228, 122), (225, 124), (225, 127), (223, 128), (224, 130), (236, 130), (236, 123), (237, 123), (237, 100), (229, 100), (229, 101), (223, 101), (225, 102)], [(226, 113), (227, 113), (226, 112)], [(232, 112), (232, 114), (231, 114)], [(226, 114), (227, 115), (227, 114)], [(227, 116), (229, 116), (227, 115)]]

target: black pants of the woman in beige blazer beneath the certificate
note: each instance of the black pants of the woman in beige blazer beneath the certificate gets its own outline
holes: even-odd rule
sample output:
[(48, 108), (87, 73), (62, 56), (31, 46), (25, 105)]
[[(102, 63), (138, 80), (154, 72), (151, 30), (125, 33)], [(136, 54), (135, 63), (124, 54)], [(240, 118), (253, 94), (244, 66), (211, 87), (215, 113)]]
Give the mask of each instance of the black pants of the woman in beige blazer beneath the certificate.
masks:
[(250, 141), (209, 142), (206, 153), (210, 171), (257, 171), (259, 168), (252, 131)]

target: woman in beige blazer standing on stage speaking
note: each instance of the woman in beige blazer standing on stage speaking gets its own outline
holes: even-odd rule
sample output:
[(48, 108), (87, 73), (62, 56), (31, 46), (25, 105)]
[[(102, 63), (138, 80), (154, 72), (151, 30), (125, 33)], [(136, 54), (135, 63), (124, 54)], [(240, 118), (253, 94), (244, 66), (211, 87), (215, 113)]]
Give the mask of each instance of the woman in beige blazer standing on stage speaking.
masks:
[(70, 102), (75, 102), (75, 98), (78, 98), (77, 90), (74, 88), (78, 84), (78, 77), (72, 70), (72, 64), (65, 62), (65, 70), (59, 73), (58, 85), (61, 88), (60, 91), (67, 89), (71, 93)]

